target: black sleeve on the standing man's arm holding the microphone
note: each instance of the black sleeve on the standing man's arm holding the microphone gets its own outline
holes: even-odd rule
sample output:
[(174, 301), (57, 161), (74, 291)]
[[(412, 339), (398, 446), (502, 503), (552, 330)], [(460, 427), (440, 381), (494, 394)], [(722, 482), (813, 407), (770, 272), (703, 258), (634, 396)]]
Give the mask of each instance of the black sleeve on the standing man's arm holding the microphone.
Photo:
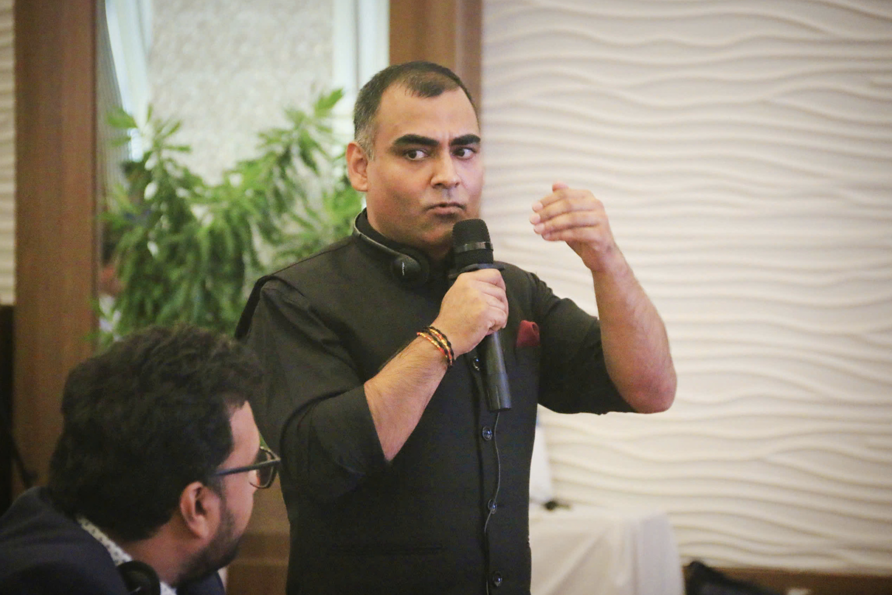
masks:
[(258, 426), (296, 485), (326, 501), (384, 469), (357, 367), (300, 291), (268, 281), (246, 342), (268, 378), (252, 399)]

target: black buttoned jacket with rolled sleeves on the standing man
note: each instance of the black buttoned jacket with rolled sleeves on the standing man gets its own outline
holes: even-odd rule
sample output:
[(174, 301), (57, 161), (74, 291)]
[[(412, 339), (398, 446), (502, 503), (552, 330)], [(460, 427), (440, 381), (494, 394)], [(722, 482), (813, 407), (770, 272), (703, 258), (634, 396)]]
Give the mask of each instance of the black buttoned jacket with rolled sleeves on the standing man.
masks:
[[(268, 372), (268, 392), (252, 407), (284, 461), (289, 595), (469, 595), (487, 582), (498, 585), (492, 592), (528, 593), (536, 404), (631, 411), (607, 377), (598, 321), (505, 265), (500, 340), (512, 408), (497, 426), (476, 354), (462, 355), (388, 463), (363, 383), (434, 321), (449, 288), (435, 269), (420, 286), (401, 282), (392, 258), (356, 235), (339, 241), (260, 279), (236, 332)], [(539, 345), (517, 346), (522, 321), (538, 325)]]

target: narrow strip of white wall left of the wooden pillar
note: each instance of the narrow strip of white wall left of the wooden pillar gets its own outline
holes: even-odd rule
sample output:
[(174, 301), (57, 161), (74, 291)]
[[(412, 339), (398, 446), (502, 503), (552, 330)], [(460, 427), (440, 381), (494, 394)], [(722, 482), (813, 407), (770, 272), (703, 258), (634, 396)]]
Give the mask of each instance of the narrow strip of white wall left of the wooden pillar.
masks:
[(12, 0), (0, 0), (0, 304), (15, 301), (15, 69)]

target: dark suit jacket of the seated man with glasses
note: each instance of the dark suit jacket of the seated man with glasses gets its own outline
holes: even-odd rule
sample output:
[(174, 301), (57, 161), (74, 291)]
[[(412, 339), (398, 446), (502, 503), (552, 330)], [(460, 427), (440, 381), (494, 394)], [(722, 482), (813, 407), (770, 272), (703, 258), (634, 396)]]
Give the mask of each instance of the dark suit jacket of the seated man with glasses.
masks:
[[(102, 543), (35, 487), (0, 518), (0, 595), (127, 595)], [(178, 595), (224, 595), (216, 573)]]

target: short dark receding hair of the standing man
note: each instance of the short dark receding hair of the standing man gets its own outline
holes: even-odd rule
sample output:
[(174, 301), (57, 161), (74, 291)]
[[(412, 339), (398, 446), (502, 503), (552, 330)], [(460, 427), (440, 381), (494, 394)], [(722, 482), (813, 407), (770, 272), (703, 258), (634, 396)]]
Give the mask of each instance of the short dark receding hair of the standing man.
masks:
[(369, 158), (375, 138), (375, 117), (381, 105), (384, 91), (392, 86), (405, 87), (416, 97), (438, 97), (446, 91), (460, 88), (476, 113), (477, 108), (467, 86), (454, 72), (440, 64), (427, 61), (394, 64), (378, 72), (368, 83), (359, 89), (353, 107), (353, 135)]

